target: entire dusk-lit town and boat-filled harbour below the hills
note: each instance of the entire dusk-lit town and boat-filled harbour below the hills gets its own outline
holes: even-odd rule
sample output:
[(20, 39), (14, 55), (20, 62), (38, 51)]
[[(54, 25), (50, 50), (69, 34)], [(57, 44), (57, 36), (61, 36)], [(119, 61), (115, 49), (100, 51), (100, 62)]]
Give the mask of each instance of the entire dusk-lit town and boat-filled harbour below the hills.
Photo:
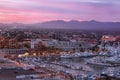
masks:
[(117, 34), (11, 31), (22, 36), (0, 36), (0, 80), (120, 80)]

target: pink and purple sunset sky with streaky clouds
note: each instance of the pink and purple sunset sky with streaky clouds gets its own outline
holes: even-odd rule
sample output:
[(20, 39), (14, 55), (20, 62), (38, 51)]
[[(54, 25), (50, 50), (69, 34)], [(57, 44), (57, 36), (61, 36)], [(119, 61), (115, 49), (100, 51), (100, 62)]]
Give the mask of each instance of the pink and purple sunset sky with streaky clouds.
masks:
[(0, 0), (0, 22), (120, 22), (120, 0)]

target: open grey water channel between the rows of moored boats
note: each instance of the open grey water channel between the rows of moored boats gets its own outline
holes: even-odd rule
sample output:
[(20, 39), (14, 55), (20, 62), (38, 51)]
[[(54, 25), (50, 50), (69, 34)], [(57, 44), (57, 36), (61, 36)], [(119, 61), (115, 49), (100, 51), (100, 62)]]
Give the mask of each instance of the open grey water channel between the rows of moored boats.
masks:
[(87, 60), (91, 58), (72, 58), (72, 59), (60, 59), (63, 63), (68, 63), (73, 66), (80, 66), (83, 69), (89, 71), (86, 74), (101, 74), (102, 72), (110, 72), (110, 71), (118, 71), (120, 70), (120, 66), (117, 67), (107, 67), (107, 66), (98, 66), (98, 65), (90, 65), (86, 64)]

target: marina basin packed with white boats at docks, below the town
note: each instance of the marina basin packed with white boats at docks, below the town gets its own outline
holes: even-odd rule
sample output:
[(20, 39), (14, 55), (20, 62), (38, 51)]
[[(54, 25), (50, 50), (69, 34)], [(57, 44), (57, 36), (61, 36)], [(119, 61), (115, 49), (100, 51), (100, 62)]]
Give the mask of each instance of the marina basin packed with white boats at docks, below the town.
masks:
[[(60, 56), (61, 57), (61, 56)], [(111, 57), (105, 56), (94, 56), (94, 57), (71, 57), (44, 61), (40, 58), (23, 58), (23, 62), (26, 64), (34, 64), (39, 67), (44, 67), (49, 70), (53, 70), (56, 73), (63, 73), (72, 78), (79, 77), (83, 80), (85, 78), (95, 80), (94, 78), (100, 77), (101, 74), (106, 74), (110, 77), (115, 77), (119, 80), (119, 65), (114, 65), (108, 62)], [(27, 61), (27, 62), (26, 62)], [(29, 62), (30, 61), (30, 62)], [(113, 62), (114, 63), (114, 62)], [(111, 71), (112, 70), (112, 71)], [(106, 72), (104, 72), (106, 71)], [(113, 72), (113, 73), (112, 73)], [(90, 77), (96, 76), (96, 77)], [(112, 75), (112, 76), (111, 76)], [(76, 79), (78, 80), (78, 79)]]

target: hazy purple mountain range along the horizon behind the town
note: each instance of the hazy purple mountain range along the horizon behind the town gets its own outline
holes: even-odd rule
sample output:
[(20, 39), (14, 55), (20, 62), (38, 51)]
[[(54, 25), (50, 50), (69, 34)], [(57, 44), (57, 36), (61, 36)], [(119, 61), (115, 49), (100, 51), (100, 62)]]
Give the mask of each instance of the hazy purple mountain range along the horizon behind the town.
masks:
[[(2, 24), (3, 25), (3, 24)], [(0, 24), (1, 26), (1, 24)], [(81, 30), (108, 30), (108, 31), (120, 31), (120, 22), (99, 22), (95, 20), (91, 21), (48, 21), (36, 24), (4, 24), (4, 26), (16, 27), (16, 28), (34, 28), (34, 29), (81, 29)]]

